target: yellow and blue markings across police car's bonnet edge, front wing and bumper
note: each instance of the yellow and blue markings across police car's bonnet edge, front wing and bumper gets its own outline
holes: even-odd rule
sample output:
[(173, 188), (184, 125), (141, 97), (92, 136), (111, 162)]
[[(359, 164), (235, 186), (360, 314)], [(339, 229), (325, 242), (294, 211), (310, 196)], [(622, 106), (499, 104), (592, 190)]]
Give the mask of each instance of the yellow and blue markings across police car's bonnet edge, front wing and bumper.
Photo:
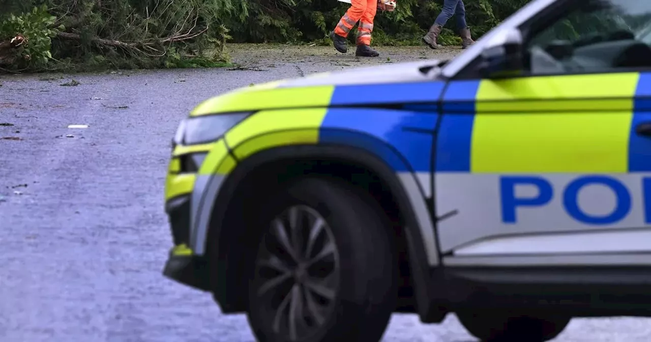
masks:
[[(435, 102), (443, 93), (445, 83), (298, 88), (282, 85), (282, 81), (266, 83), (203, 102), (191, 116), (258, 107), (264, 110), (240, 122), (222, 140), (197, 147), (177, 147), (174, 156), (210, 151), (199, 175), (227, 175), (236, 165), (235, 158), (242, 160), (261, 150), (296, 144), (333, 144), (374, 152), (398, 172), (430, 171), (432, 132), (438, 119)], [(402, 110), (373, 107), (404, 103), (409, 106)], [(366, 107), (340, 107), (354, 104)], [(191, 192), (195, 180), (192, 177), (168, 175), (166, 199)]]

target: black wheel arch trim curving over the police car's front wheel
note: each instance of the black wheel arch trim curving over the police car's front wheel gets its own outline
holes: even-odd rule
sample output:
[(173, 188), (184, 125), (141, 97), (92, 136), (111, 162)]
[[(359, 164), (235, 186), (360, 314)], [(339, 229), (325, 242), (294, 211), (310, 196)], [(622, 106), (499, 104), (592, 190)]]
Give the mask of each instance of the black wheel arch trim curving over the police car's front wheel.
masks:
[[(208, 229), (208, 236), (206, 236), (206, 255), (212, 255), (212, 260), (217, 260), (217, 274), (214, 282), (211, 284), (214, 292), (215, 300), (219, 302), (223, 312), (239, 312), (246, 308), (245, 298), (236, 298), (233, 296), (233, 291), (246, 288), (246, 284), (242, 283), (242, 275), (236, 277), (228, 276), (230, 272), (238, 272), (240, 265), (245, 263), (243, 261), (242, 244), (238, 238), (242, 238), (241, 234), (238, 236), (238, 229), (223, 229), (223, 226), (229, 226), (232, 220), (236, 219), (238, 213), (234, 208), (238, 205), (243, 205), (243, 199), (238, 199), (238, 193), (255, 193), (256, 189), (252, 188), (256, 184), (251, 184), (251, 180), (257, 177), (257, 173), (268, 171), (266, 177), (278, 177), (282, 174), (283, 167), (297, 162), (307, 161), (320, 161), (322, 163), (342, 163), (350, 165), (351, 167), (359, 168), (368, 171), (371, 175), (377, 177), (381, 184), (387, 187), (391, 193), (391, 198), (395, 200), (396, 210), (400, 217), (400, 225), (404, 232), (404, 239), (406, 249), (408, 252), (409, 272), (411, 284), (413, 285), (413, 300), (416, 312), (424, 317), (430, 317), (432, 310), (432, 294), (428, 282), (430, 281), (430, 267), (434, 266), (430, 262), (432, 258), (428, 259), (427, 248), (430, 248), (429, 253), (432, 253), (432, 248), (436, 248), (436, 244), (432, 246), (425, 246), (422, 238), (421, 229), (432, 229), (431, 218), (428, 218), (429, 225), (422, 227), (423, 219), (417, 217), (414, 210), (413, 201), (419, 200), (421, 206), (426, 208), (426, 203), (421, 194), (420, 197), (415, 199), (414, 194), (409, 195), (409, 190), (404, 185), (409, 182), (409, 179), (400, 179), (395, 171), (389, 167), (383, 160), (381, 160), (374, 153), (368, 150), (359, 149), (356, 147), (344, 145), (290, 145), (283, 147), (271, 147), (270, 149), (255, 152), (255, 154), (245, 158), (229, 173), (216, 195), (215, 205), (212, 208), (210, 217), (210, 227)], [(275, 169), (274, 169), (275, 167)], [(264, 169), (265, 171), (260, 171)], [(253, 178), (250, 178), (253, 177)], [(414, 175), (404, 175), (410, 177), (411, 182), (416, 184), (417, 180)], [(276, 178), (278, 180), (279, 178)], [(270, 187), (271, 189), (271, 187)], [(414, 189), (412, 188), (413, 192)], [(210, 194), (206, 194), (210, 195)], [(430, 215), (429, 212), (423, 214)], [(241, 232), (240, 232), (241, 233)], [(211, 242), (217, 241), (217, 244)], [(216, 248), (216, 249), (215, 249)], [(239, 249), (239, 251), (238, 251)], [(438, 251), (434, 249), (434, 253), (438, 258)], [(215, 259), (216, 257), (216, 259)], [(436, 259), (439, 261), (439, 259)], [(215, 282), (216, 281), (216, 282)], [(242, 296), (240, 296), (242, 297)], [(431, 320), (431, 319), (430, 319)], [(434, 319), (436, 321), (436, 319)]]

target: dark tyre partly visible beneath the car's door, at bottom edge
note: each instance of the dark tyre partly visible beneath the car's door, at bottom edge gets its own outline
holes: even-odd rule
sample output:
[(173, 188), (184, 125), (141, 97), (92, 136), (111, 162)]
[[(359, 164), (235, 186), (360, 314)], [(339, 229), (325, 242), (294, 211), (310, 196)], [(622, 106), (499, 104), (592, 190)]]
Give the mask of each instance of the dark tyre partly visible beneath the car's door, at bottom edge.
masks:
[(497, 310), (460, 311), (463, 326), (482, 341), (544, 342), (557, 337), (571, 317), (556, 314), (518, 315)]

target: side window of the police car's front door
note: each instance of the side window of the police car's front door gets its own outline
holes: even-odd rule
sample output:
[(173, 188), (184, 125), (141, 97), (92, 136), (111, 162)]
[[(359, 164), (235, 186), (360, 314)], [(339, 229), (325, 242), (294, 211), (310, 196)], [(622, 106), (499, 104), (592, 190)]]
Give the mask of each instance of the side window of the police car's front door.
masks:
[(582, 0), (527, 42), (531, 74), (651, 67), (651, 1)]

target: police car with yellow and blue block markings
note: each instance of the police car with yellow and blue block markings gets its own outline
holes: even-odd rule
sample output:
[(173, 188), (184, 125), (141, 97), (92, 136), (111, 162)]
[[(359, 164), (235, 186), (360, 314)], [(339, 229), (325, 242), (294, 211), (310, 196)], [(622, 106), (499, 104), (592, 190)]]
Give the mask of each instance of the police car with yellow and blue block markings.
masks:
[(164, 274), (260, 341), (483, 340), (651, 316), (651, 2), (533, 0), (450, 61), (206, 100), (174, 137)]

